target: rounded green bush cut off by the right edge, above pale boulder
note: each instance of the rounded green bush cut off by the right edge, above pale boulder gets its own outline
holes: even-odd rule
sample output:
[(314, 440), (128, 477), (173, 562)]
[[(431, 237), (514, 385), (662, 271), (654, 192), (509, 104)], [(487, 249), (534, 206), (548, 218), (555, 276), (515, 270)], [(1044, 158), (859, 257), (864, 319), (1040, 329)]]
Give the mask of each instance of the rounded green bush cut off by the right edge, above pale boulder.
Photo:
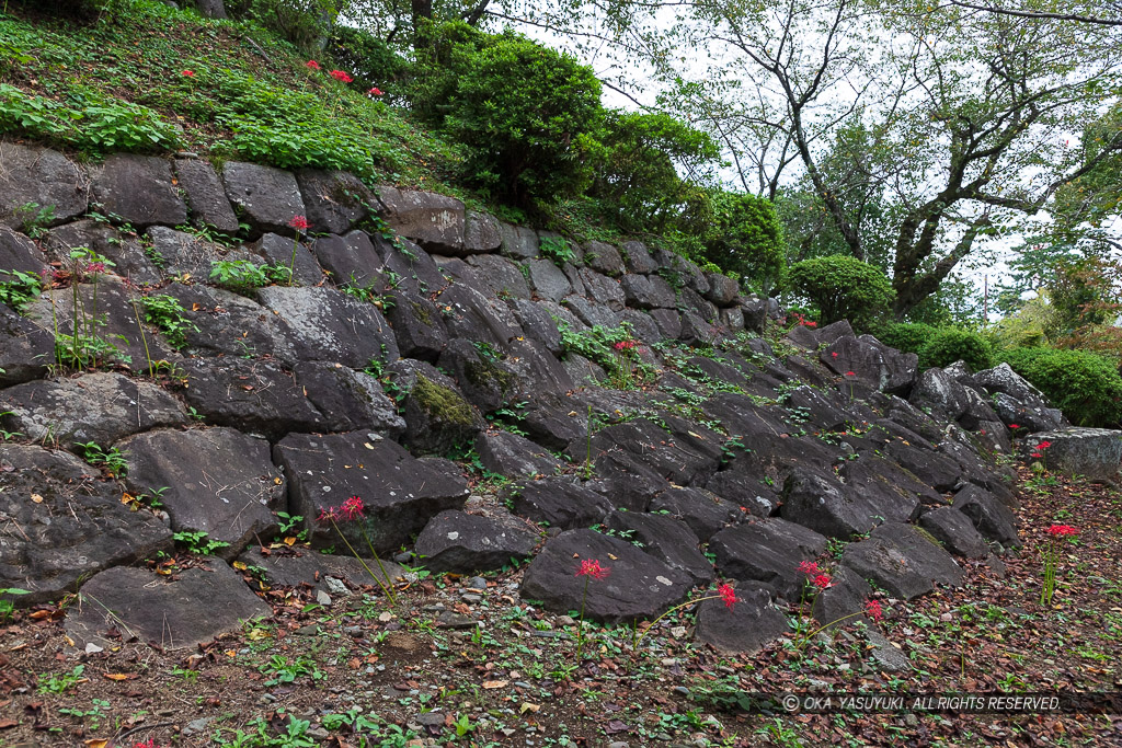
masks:
[(1118, 428), (1122, 377), (1113, 363), (1085, 351), (1014, 348), (1002, 355), (1077, 426)]

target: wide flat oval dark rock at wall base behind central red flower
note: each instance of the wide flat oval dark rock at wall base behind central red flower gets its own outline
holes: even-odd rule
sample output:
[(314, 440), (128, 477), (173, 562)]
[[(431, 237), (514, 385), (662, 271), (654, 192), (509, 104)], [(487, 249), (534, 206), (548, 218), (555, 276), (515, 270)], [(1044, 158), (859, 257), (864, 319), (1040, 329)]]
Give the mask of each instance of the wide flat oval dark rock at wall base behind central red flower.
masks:
[[(581, 561), (599, 561), (608, 570), (603, 580), (577, 576)], [(606, 624), (650, 620), (681, 602), (692, 587), (690, 579), (631, 543), (616, 537), (573, 529), (545, 544), (526, 567), (524, 598), (541, 600), (557, 612), (579, 610)]]

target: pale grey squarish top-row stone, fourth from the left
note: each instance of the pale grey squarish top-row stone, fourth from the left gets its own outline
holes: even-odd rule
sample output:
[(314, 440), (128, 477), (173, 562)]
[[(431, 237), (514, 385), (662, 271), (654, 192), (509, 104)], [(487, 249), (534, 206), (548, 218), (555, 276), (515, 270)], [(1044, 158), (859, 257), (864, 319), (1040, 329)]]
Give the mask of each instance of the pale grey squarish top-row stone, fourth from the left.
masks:
[[(300, 185), (291, 172), (272, 166), (227, 161), (222, 167), (226, 194), (240, 211), (255, 236), (265, 232), (296, 234), (291, 223), (306, 216)], [(312, 229), (319, 229), (312, 225)]]

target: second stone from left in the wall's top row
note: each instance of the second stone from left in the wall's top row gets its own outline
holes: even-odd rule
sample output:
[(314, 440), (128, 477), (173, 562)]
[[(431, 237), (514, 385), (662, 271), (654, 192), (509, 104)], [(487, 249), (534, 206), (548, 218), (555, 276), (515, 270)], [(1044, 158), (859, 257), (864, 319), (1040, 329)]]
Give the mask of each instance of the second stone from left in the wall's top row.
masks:
[(113, 154), (91, 168), (93, 200), (138, 229), (187, 222), (187, 205), (172, 184), (172, 163), (155, 156)]

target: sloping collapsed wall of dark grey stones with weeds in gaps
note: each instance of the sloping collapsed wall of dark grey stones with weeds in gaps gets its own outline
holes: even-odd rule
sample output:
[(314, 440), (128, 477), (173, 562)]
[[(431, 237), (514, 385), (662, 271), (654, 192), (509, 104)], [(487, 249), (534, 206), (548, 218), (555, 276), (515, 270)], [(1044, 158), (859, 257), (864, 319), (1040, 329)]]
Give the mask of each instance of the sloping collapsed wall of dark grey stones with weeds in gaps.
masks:
[[(27, 204), (50, 210), (29, 224)], [(343, 532), (366, 552), (355, 523), (316, 521), (360, 496), (379, 553), (415, 543), (460, 572), (532, 558), (523, 592), (555, 610), (580, 604), (574, 558), (603, 560), (599, 620), (736, 580), (744, 604), (703, 603), (697, 635), (752, 649), (785, 629), (774, 601), (827, 550), (824, 621), (858, 612), (870, 582), (914, 598), (973, 560), (1000, 566), (1018, 544), (995, 460), (1010, 426), (1066, 425), (1008, 367), (920, 372), (844, 322), (780, 338), (773, 299), (641, 242), (565, 242), (557, 261), (561, 237), (344, 173), (190, 155), (84, 167), (0, 142), (0, 270), (52, 280), (22, 314), (0, 305), (0, 588), (96, 600), (68, 622), (77, 646), (123, 624), (191, 646), (268, 615), (234, 569), (369, 583), (343, 555), (263, 551), (286, 512), (314, 547), (343, 551)], [(80, 247), (112, 266), (76, 267)], [(292, 280), (212, 278), (237, 260), (292, 264)], [(146, 316), (154, 296), (182, 318)], [(96, 368), (58, 366), (75, 324), (103, 343)], [(585, 358), (573, 341), (597, 327), (636, 348)], [(467, 445), (505, 484), (469, 490)], [(139, 562), (175, 533), (205, 533), (215, 573), (151, 584)], [(204, 598), (191, 618), (182, 601)]]

